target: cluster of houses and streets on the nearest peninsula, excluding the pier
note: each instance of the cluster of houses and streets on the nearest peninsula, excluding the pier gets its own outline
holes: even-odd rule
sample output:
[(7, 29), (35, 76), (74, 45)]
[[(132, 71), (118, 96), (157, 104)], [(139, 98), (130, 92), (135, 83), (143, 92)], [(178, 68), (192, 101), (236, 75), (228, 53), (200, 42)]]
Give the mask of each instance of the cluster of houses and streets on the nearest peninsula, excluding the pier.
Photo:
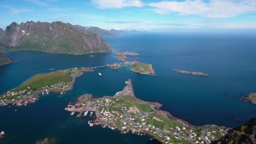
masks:
[[(205, 142), (211, 143), (211, 141), (216, 140), (216, 136), (214, 134), (216, 133), (216, 131), (214, 130), (207, 130), (206, 137), (208, 139), (206, 139), (206, 137), (200, 138), (200, 136), (197, 136), (197, 133), (195, 133), (195, 131), (184, 126), (182, 126), (181, 128), (179, 126), (170, 126), (169, 128), (162, 127), (162, 130), (160, 127), (157, 127), (149, 122), (151, 119), (157, 119), (155, 117), (149, 116), (149, 114), (154, 113), (155, 110), (151, 110), (149, 112), (139, 111), (134, 113), (131, 111), (131, 107), (127, 107), (122, 102), (122, 99), (103, 98), (92, 100), (90, 98), (91, 96), (81, 96), (78, 99), (78, 103), (69, 104), (69, 106), (72, 107), (73, 110), (79, 111), (84, 106), (92, 105), (93, 110), (96, 112), (97, 115), (97, 120), (91, 122), (94, 125), (101, 123), (103, 125), (102, 127), (104, 128), (108, 127), (112, 130), (118, 128), (122, 131), (122, 133), (127, 133), (130, 130), (133, 133), (136, 132), (140, 135), (152, 133), (157, 137), (159, 136), (159, 138), (162, 139), (165, 144), (171, 143), (171, 134), (174, 134), (174, 137), (178, 139), (178, 141), (181, 140), (181, 137), (179, 137), (180, 135), (191, 139), (197, 144), (204, 144)], [(202, 133), (205, 131), (206, 130), (202, 130)], [(220, 129), (219, 131), (224, 130)], [(223, 135), (224, 134), (225, 133), (223, 132)]]

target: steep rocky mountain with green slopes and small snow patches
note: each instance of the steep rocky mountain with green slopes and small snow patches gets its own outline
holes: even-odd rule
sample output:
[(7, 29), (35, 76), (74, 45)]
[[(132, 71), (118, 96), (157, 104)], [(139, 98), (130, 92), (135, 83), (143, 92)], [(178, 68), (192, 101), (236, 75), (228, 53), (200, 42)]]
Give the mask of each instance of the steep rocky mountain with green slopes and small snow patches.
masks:
[(101, 36), (77, 29), (60, 21), (11, 23), (0, 36), (10, 50), (37, 50), (53, 53), (82, 54), (111, 51)]

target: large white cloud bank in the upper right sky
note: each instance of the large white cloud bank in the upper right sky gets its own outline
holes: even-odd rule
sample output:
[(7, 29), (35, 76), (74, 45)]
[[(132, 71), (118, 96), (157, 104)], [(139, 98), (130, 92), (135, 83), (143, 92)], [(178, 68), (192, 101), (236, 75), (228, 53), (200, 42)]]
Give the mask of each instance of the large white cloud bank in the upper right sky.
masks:
[(209, 18), (226, 18), (256, 12), (256, 0), (209, 0), (209, 3), (204, 0), (165, 0), (148, 5), (153, 8), (152, 11), (159, 14), (192, 14)]

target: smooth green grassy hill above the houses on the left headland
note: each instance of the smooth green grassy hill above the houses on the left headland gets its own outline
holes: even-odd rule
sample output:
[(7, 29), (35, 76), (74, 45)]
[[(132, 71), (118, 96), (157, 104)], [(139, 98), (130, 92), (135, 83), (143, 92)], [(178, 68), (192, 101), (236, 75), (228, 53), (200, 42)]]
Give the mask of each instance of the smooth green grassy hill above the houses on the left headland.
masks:
[(61, 71), (46, 74), (38, 74), (31, 77), (29, 80), (21, 84), (19, 87), (11, 89), (11, 91), (20, 91), (26, 89), (27, 87), (30, 87), (32, 89), (38, 89), (55, 83), (59, 83), (61, 81), (71, 82), (72, 76), (70, 76), (70, 74), (71, 73), (64, 74)]

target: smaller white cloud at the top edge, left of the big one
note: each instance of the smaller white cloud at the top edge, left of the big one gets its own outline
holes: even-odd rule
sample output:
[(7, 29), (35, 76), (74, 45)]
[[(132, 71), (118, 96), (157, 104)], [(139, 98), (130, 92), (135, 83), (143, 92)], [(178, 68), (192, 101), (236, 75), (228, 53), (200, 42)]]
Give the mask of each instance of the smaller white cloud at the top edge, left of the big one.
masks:
[(100, 9), (144, 6), (140, 0), (91, 0), (91, 3)]

